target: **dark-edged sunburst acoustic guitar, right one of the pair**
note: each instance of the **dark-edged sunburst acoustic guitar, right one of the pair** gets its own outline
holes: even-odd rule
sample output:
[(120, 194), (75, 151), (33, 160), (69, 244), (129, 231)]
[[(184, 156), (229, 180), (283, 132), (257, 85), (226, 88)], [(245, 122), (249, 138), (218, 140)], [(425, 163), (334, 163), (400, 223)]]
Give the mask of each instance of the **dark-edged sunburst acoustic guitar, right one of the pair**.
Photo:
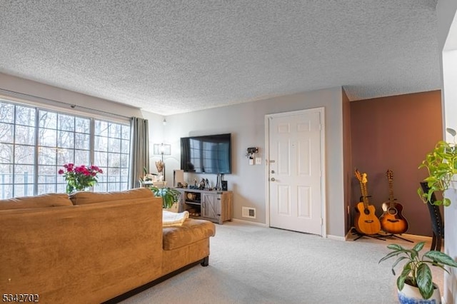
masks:
[(381, 221), (381, 228), (386, 233), (401, 234), (408, 230), (408, 221), (401, 215), (403, 206), (397, 203), (393, 198), (393, 172), (388, 170), (386, 173), (388, 179), (388, 201), (384, 202), (381, 206), (383, 214), (379, 218)]

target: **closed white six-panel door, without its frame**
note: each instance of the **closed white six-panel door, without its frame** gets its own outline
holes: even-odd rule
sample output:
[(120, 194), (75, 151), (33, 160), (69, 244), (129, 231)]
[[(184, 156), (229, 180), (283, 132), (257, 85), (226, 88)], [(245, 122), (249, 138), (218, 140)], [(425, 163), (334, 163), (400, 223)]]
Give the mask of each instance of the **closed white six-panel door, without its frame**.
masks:
[(323, 235), (323, 108), (267, 121), (270, 226)]

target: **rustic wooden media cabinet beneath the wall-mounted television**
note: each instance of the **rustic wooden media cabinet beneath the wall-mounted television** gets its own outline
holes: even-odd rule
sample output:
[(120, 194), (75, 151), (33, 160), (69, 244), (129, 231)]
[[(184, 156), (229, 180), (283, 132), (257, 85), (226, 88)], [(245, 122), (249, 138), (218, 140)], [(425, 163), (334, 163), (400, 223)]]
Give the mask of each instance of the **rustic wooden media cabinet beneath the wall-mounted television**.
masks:
[(191, 218), (222, 224), (231, 221), (232, 192), (176, 188), (181, 192), (180, 212), (189, 211)]

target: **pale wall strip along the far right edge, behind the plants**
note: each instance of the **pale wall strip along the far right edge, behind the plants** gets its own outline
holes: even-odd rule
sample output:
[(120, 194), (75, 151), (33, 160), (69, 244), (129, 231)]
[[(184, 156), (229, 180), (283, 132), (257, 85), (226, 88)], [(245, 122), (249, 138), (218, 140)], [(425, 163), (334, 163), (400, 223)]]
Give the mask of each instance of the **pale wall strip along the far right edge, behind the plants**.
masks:
[[(438, 43), (441, 54), (443, 81), (443, 127), (457, 128), (457, 1), (440, 0), (436, 6), (438, 16)], [(452, 138), (447, 138), (452, 140)], [(451, 206), (444, 208), (444, 251), (457, 258), (457, 191), (456, 186), (446, 192)], [(444, 273), (443, 297), (446, 303), (457, 303), (457, 270)]]

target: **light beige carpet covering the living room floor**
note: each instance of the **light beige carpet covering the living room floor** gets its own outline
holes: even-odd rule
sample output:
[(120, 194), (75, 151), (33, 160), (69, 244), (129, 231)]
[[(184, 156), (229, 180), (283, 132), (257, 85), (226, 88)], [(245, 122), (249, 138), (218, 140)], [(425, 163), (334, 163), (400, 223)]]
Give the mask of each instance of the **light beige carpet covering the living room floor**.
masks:
[[(411, 246), (224, 223), (211, 238), (208, 267), (196, 265), (123, 303), (398, 303), (391, 262), (378, 264), (388, 243)], [(443, 290), (442, 271), (433, 276)]]

